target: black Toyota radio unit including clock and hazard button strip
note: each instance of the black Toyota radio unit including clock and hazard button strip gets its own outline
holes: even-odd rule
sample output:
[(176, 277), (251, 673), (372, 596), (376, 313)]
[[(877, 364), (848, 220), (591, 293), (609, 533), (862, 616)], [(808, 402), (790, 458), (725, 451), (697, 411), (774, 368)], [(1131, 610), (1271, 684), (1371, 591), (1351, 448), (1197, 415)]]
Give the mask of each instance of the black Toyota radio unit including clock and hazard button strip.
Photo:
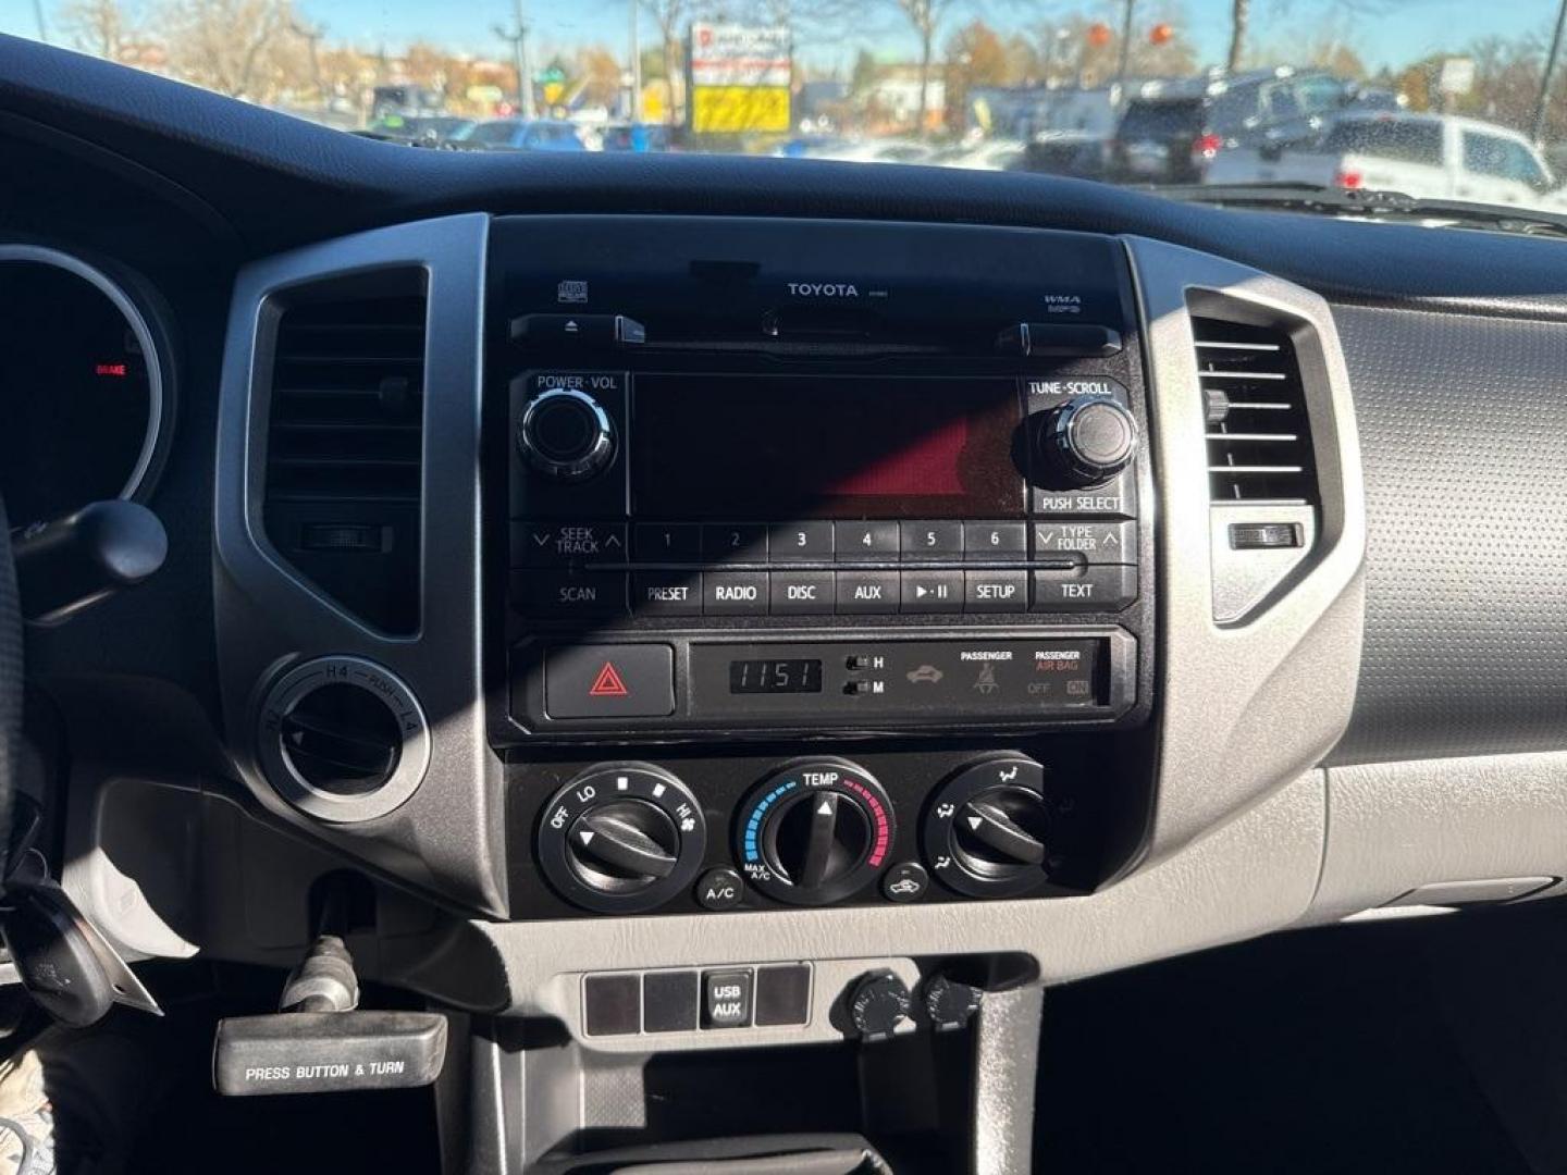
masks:
[[(1152, 577), (1119, 244), (816, 224), (766, 257), (700, 224), (498, 265), (517, 730), (1127, 714)], [(852, 280), (793, 280), (816, 252)]]

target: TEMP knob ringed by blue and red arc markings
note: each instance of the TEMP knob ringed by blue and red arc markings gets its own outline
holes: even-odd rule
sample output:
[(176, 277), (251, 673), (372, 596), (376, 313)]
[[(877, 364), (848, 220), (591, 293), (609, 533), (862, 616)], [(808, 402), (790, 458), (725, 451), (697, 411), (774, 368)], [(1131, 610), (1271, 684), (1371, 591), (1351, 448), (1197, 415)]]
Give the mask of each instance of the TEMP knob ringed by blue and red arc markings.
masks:
[(823, 906), (881, 873), (893, 835), (892, 801), (868, 771), (845, 760), (805, 760), (751, 793), (735, 848), (755, 888)]

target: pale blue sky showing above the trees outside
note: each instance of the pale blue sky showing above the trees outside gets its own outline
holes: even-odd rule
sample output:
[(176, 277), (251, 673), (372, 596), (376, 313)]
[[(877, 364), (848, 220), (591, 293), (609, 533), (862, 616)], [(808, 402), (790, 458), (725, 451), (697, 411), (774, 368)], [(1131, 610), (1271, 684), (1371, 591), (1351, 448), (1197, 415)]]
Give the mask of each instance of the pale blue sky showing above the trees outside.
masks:
[[(146, 8), (155, 0), (141, 0)], [(328, 41), (349, 41), (360, 47), (385, 45), (396, 52), (409, 41), (432, 41), (445, 49), (503, 56), (505, 44), (497, 25), (509, 25), (516, 0), (295, 0), (309, 20), (326, 25)], [(581, 44), (600, 42), (622, 52), (630, 39), (630, 0), (522, 0), (533, 36), (534, 61), (552, 52), (569, 52)], [(1197, 47), (1205, 64), (1222, 60), (1229, 42), (1232, 0), (1135, 0), (1138, 24), (1150, 25), (1166, 13), (1185, 14), (1180, 27)], [(60, 0), (0, 0), (0, 31), (38, 38), (34, 6), (52, 25)], [(136, 8), (138, 0), (130, 0)], [(821, 67), (845, 72), (860, 47), (881, 60), (909, 60), (917, 42), (895, 14), (892, 0), (865, 0), (860, 11), (881, 8), (881, 16), (856, 20), (854, 31), (841, 28), (802, 38), (799, 52)], [(1482, 36), (1517, 38), (1548, 31), (1556, 16), (1556, 0), (1254, 0), (1252, 31), (1257, 41), (1280, 39), (1332, 28), (1351, 44), (1371, 67), (1401, 66), (1432, 52), (1454, 50)], [(937, 41), (973, 17), (998, 30), (1030, 30), (1050, 17), (1087, 11), (1119, 27), (1120, 0), (953, 0)], [(1145, 16), (1142, 16), (1145, 14)], [(653, 22), (641, 17), (642, 44), (655, 39)]]

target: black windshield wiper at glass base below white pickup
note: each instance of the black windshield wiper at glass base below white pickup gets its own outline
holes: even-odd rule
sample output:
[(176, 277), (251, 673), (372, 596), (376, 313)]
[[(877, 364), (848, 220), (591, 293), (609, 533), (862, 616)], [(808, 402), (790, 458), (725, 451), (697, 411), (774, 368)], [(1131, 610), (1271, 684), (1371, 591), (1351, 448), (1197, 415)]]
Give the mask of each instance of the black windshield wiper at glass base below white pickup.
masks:
[(1142, 188), (1160, 196), (1227, 208), (1272, 208), (1329, 216), (1368, 216), (1393, 221), (1451, 221), (1464, 229), (1567, 237), (1567, 215), (1536, 208), (1410, 196), (1382, 188), (1326, 188), (1310, 183), (1189, 183)]

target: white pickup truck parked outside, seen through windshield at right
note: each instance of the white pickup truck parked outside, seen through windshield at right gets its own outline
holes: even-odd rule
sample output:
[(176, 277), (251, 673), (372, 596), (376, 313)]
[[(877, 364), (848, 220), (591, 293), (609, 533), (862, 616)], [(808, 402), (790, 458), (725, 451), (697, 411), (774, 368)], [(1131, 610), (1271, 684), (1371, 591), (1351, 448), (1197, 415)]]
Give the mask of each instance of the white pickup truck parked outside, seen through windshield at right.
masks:
[(1208, 183), (1373, 188), (1424, 199), (1567, 212), (1567, 194), (1523, 135), (1448, 114), (1344, 116), (1308, 150), (1222, 150)]

